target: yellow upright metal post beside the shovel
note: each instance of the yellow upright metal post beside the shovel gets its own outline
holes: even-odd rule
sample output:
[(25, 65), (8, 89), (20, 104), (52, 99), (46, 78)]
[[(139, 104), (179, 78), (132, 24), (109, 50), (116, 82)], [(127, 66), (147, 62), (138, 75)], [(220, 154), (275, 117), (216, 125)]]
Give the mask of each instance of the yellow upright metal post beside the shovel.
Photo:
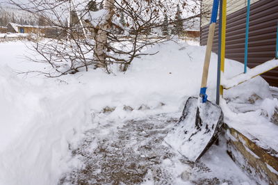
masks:
[[(226, 17), (227, 0), (222, 0), (222, 30), (221, 30), (221, 72), (224, 74), (225, 67), (225, 47), (226, 47)], [(220, 86), (220, 95), (223, 97), (223, 86)]]

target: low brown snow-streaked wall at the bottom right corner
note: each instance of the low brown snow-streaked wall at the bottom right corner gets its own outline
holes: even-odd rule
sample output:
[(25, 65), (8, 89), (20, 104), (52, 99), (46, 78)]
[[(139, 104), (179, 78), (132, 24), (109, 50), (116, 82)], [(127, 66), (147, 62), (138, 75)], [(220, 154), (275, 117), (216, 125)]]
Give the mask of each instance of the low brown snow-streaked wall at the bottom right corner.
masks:
[(225, 125), (228, 153), (235, 163), (258, 184), (278, 184), (278, 152), (256, 145), (236, 129)]

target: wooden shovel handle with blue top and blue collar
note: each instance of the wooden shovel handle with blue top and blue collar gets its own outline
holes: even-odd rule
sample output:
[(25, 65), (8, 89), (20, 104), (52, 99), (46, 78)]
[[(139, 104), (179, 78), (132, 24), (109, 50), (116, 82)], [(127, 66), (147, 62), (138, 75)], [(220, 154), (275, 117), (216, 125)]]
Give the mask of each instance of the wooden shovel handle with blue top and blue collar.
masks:
[(209, 67), (209, 63), (211, 61), (211, 49), (213, 47), (213, 37), (214, 37), (216, 19), (217, 19), (217, 15), (218, 15), (218, 5), (219, 5), (219, 0), (213, 0), (213, 10), (211, 13), (211, 24), (209, 25), (209, 29), (208, 29), (208, 40), (206, 43), (206, 55), (204, 58), (203, 77), (202, 77), (202, 84), (201, 84), (201, 90), (200, 90), (200, 97), (202, 97), (203, 103), (206, 102), (207, 97), (208, 97), (206, 95), (206, 84), (208, 81), (208, 67)]

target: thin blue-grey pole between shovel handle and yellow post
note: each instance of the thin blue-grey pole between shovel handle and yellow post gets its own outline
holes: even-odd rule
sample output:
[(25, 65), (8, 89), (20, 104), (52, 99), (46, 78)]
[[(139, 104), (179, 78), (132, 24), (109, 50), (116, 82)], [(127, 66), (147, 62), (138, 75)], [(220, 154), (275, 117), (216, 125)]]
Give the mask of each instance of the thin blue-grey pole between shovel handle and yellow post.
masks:
[(222, 0), (220, 0), (219, 8), (219, 24), (218, 24), (218, 73), (216, 83), (216, 104), (220, 102), (220, 75), (221, 75), (221, 41), (222, 41)]

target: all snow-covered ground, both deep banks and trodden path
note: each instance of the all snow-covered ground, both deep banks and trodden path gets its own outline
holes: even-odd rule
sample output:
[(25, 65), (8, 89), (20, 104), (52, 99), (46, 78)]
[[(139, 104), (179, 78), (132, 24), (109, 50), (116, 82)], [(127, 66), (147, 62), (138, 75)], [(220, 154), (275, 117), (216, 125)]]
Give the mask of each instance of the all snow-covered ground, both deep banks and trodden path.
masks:
[[(170, 41), (150, 48), (150, 53), (159, 53), (137, 58), (125, 74), (108, 75), (101, 70), (91, 70), (47, 79), (32, 73), (16, 73), (49, 70), (44, 64), (22, 57), (35, 55), (28, 52), (24, 43), (0, 43), (0, 184), (78, 183), (72, 177), (81, 177), (82, 169), (88, 167), (86, 162), (97, 163), (94, 166), (97, 169), (92, 170), (94, 174), (90, 173), (90, 180), (94, 182), (94, 175), (107, 175), (105, 166), (114, 169), (111, 168), (114, 159), (106, 158), (109, 154), (123, 157), (115, 161), (117, 169), (119, 162), (129, 162), (128, 159), (147, 166), (142, 168), (148, 169), (143, 181), (142, 178), (138, 181), (143, 184), (160, 184), (154, 169), (164, 170), (163, 174), (168, 175), (164, 177), (171, 179), (162, 184), (192, 184), (198, 182), (199, 177), (215, 177), (221, 184), (254, 184), (229, 159), (224, 141), (220, 140), (220, 146), (213, 146), (207, 152), (201, 159), (203, 165), (190, 166), (182, 163), (181, 156), (162, 140), (158, 139), (156, 146), (150, 140), (163, 138), (181, 115), (186, 99), (198, 96), (205, 49)], [(208, 76), (208, 99), (212, 102), (215, 101), (216, 65), (217, 56), (212, 54)], [(230, 79), (242, 71), (242, 64), (226, 61), (225, 78)], [(225, 122), (245, 133), (252, 131), (256, 137), (263, 137), (271, 129), (268, 145), (278, 148), (277, 141), (271, 140), (277, 136), (278, 128), (270, 122), (278, 102), (272, 99), (268, 83), (256, 77), (225, 91), (224, 96), (227, 100), (222, 101)], [(248, 125), (247, 120), (254, 124)], [(142, 129), (141, 124), (145, 125)], [(144, 137), (149, 133), (154, 134)], [(129, 139), (122, 138), (124, 136)], [(151, 142), (146, 145), (151, 147), (148, 152), (140, 150), (142, 143), (147, 142)], [(163, 147), (169, 156), (161, 150)], [(97, 151), (99, 153), (94, 155)], [(144, 164), (141, 159), (152, 158), (154, 152), (160, 156), (156, 165), (150, 161)], [(106, 159), (111, 159), (110, 163), (105, 163)], [(127, 167), (122, 165), (122, 168)], [(107, 179), (107, 183), (113, 183), (111, 179)]]

